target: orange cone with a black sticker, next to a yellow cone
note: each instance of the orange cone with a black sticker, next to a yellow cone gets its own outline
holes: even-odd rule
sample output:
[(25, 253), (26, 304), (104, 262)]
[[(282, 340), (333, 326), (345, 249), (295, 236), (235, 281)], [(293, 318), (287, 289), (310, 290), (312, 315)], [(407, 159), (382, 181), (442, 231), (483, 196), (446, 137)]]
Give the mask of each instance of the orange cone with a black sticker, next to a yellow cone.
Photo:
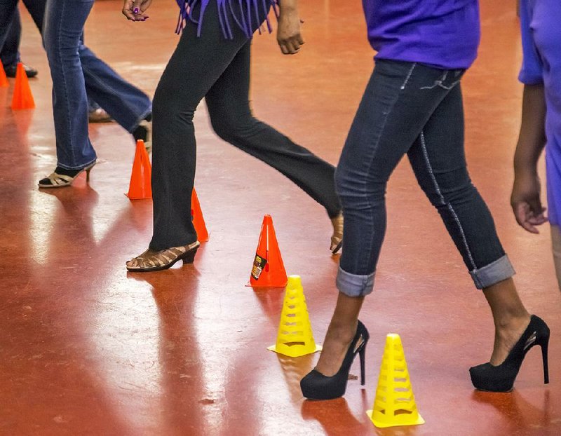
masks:
[(284, 287), (287, 281), (283, 258), (280, 257), (280, 250), (276, 242), (273, 219), (271, 215), (265, 215), (248, 285)]

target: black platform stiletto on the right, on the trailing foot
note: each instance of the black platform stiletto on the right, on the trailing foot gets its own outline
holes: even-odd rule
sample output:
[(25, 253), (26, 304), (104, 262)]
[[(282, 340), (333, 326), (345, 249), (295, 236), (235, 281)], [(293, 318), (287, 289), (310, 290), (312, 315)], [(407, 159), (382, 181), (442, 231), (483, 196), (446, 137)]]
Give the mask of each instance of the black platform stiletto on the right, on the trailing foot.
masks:
[(548, 372), (548, 343), (549, 327), (541, 318), (532, 315), (518, 342), (515, 343), (508, 356), (501, 365), (491, 365), (489, 362), (469, 369), (471, 383), (479, 390), (491, 392), (509, 392), (513, 389), (514, 381), (522, 365), (526, 353), (533, 346), (541, 346), (543, 360), (543, 383), (549, 383)]

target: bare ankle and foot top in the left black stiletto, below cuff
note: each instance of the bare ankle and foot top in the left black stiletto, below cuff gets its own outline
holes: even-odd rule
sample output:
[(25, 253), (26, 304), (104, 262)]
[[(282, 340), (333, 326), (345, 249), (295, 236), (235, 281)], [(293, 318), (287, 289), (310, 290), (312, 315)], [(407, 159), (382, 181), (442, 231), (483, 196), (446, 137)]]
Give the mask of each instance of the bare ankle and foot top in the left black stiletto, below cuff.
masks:
[(348, 297), (339, 292), (337, 306), (331, 318), (323, 350), (316, 365), (316, 371), (324, 376), (332, 376), (339, 371), (351, 341), (356, 334), (358, 313), (364, 297)]

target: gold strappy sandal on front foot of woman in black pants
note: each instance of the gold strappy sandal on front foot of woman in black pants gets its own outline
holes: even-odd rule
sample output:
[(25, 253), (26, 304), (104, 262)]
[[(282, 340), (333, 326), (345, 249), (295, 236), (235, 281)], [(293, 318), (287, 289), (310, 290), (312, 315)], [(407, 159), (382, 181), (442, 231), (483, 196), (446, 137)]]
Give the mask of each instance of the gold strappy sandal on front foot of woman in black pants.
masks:
[(195, 254), (201, 243), (196, 240), (189, 245), (181, 247), (166, 248), (161, 251), (146, 250), (130, 261), (127, 262), (128, 271), (135, 273), (146, 273), (148, 271), (161, 271), (173, 266), (175, 262), (182, 260), (184, 264), (192, 264), (195, 260)]

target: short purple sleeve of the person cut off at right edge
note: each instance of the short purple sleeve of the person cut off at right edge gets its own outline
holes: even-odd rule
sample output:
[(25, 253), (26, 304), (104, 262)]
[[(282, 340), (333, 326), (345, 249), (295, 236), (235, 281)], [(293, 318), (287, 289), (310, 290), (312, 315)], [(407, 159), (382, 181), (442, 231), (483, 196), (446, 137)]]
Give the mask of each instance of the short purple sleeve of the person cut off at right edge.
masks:
[(529, 0), (520, 1), (520, 27), (522, 29), (522, 68), (518, 80), (525, 85), (543, 83), (542, 64), (531, 27), (532, 8)]

